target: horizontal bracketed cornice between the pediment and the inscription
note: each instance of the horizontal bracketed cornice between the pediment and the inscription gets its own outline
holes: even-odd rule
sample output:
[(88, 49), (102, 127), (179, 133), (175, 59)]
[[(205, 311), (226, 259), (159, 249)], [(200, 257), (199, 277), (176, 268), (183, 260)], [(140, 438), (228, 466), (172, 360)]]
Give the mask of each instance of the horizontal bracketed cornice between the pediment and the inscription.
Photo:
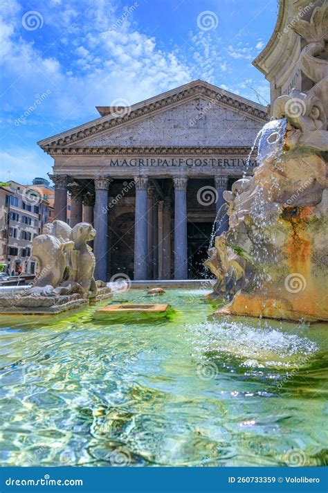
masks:
[(244, 156), (250, 152), (250, 147), (201, 147), (201, 146), (144, 146), (144, 147), (49, 147), (51, 156), (211, 156), (212, 154)]

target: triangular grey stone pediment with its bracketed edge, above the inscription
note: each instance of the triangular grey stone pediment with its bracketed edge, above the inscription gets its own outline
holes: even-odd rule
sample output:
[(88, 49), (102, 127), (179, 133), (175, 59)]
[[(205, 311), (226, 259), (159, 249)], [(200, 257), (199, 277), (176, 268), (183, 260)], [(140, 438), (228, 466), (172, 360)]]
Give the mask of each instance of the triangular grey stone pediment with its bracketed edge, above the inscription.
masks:
[(267, 120), (253, 101), (194, 81), (40, 141), (57, 147), (251, 145)]

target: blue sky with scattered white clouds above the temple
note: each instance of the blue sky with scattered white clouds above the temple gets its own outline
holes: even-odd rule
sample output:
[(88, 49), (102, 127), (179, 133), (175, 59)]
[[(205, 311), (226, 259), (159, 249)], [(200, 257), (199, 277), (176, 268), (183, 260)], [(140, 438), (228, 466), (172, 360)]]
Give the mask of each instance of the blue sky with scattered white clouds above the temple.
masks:
[(97, 118), (96, 105), (134, 104), (195, 79), (269, 101), (251, 62), (273, 32), (277, 0), (0, 4), (1, 181), (46, 177), (53, 159), (36, 142)]

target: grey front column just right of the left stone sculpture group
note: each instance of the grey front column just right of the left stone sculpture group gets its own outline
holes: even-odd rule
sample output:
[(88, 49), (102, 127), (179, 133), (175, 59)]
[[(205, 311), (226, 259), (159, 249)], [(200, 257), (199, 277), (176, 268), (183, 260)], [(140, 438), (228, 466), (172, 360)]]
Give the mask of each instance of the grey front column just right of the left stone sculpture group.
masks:
[(109, 177), (95, 178), (95, 209), (94, 228), (96, 231), (93, 240), (95, 254), (95, 280), (107, 281), (107, 244), (108, 244), (108, 188)]

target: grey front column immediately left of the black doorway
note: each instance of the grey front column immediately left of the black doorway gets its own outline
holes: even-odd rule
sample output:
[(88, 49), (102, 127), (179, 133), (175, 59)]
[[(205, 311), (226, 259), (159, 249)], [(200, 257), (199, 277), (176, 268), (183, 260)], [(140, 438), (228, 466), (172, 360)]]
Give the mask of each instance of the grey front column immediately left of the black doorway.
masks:
[(188, 279), (187, 251), (187, 177), (174, 183), (174, 279)]

